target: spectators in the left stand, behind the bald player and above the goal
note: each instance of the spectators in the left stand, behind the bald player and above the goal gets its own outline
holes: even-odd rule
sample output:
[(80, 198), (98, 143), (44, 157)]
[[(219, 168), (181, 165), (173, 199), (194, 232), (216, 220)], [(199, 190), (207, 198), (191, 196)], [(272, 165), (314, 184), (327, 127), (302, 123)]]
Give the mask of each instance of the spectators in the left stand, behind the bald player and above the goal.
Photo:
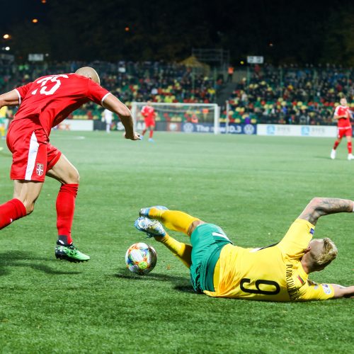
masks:
[[(48, 74), (75, 72), (83, 66), (94, 67), (101, 85), (127, 105), (132, 101), (158, 103), (214, 103), (222, 78), (204, 67), (188, 67), (166, 62), (60, 62), (20, 64), (12, 67), (13, 87)], [(75, 118), (96, 119), (101, 110), (87, 103), (75, 111)]]

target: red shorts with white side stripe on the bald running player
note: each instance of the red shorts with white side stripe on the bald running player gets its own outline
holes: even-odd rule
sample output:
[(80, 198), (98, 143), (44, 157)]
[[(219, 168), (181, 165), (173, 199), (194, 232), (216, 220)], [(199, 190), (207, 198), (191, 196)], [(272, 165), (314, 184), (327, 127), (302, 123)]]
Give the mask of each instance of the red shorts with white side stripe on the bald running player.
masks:
[(62, 155), (50, 144), (37, 119), (13, 120), (6, 142), (12, 152), (11, 179), (44, 182), (45, 173)]

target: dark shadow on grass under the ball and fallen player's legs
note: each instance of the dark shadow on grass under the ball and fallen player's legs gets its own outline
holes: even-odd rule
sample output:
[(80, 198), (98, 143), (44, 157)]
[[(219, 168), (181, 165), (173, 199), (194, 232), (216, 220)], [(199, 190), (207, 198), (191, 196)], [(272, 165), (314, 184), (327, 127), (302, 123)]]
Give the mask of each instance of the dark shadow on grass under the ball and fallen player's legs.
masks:
[(188, 278), (176, 277), (173, 275), (149, 273), (147, 275), (138, 275), (129, 273), (126, 268), (122, 268), (120, 273), (114, 275), (115, 278), (129, 279), (133, 281), (147, 281), (156, 280), (159, 282), (171, 282), (174, 285), (174, 289), (181, 292), (194, 292), (192, 285), (188, 285)]

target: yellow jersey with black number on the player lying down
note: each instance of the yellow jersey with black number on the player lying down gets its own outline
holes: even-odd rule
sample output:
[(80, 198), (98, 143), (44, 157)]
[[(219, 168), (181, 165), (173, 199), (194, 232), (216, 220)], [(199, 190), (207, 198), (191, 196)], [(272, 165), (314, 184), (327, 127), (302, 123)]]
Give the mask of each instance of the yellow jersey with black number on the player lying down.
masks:
[(263, 249), (244, 249), (227, 244), (215, 267), (212, 297), (265, 301), (331, 299), (333, 287), (308, 279), (301, 258), (314, 234), (314, 225), (297, 219), (282, 241)]

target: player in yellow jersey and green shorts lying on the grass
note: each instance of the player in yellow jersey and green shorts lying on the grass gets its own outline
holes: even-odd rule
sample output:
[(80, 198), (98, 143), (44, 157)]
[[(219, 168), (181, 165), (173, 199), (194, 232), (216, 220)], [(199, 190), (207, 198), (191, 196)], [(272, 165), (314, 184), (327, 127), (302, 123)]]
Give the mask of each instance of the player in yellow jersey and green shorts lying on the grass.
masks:
[[(197, 292), (280, 302), (325, 300), (354, 297), (354, 286), (309, 280), (309, 273), (323, 270), (338, 253), (331, 239), (312, 239), (314, 228), (319, 217), (353, 209), (352, 200), (314, 198), (278, 244), (259, 249), (234, 246), (217, 225), (161, 206), (140, 210), (135, 227), (154, 236), (190, 268)], [(190, 236), (191, 245), (173, 239), (160, 222)]]

